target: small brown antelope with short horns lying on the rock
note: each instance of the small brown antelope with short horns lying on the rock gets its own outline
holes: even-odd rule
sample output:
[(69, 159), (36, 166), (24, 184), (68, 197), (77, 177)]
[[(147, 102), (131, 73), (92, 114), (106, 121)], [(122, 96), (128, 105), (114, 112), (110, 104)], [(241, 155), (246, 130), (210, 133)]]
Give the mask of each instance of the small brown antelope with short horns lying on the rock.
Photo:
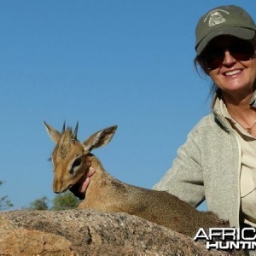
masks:
[(49, 137), (56, 143), (51, 155), (54, 166), (53, 190), (62, 193), (67, 189), (75, 191), (88, 172), (90, 165), (96, 169), (86, 191), (85, 200), (79, 208), (93, 208), (102, 212), (126, 212), (166, 226), (184, 235), (194, 237), (199, 228), (227, 227), (227, 222), (212, 212), (199, 212), (188, 203), (179, 200), (166, 191), (143, 189), (122, 183), (106, 172), (90, 151), (108, 144), (117, 126), (97, 131), (84, 143), (77, 139), (78, 123), (56, 131), (46, 124)]

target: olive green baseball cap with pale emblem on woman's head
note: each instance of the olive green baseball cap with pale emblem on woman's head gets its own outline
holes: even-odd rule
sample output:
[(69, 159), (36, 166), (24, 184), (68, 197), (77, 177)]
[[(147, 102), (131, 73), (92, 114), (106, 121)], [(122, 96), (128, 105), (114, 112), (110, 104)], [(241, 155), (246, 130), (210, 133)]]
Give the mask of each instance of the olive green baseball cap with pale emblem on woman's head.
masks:
[(235, 5), (219, 6), (201, 16), (195, 28), (195, 50), (200, 55), (207, 44), (220, 35), (250, 40), (254, 38), (255, 23), (244, 9)]

